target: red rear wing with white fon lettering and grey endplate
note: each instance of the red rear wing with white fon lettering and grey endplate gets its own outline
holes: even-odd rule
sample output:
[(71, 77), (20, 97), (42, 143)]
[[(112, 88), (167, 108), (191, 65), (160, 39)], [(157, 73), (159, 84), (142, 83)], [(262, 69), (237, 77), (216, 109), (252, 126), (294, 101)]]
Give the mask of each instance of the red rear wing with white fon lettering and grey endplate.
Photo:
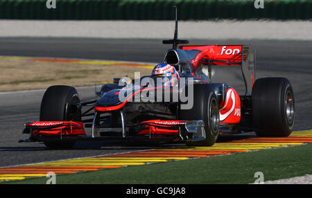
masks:
[(207, 62), (209, 72), (214, 65), (241, 65), (245, 82), (246, 96), (251, 96), (256, 79), (255, 51), (250, 45), (206, 45), (180, 46), (180, 50), (196, 55), (191, 58), (192, 71), (200, 67), (201, 62)]

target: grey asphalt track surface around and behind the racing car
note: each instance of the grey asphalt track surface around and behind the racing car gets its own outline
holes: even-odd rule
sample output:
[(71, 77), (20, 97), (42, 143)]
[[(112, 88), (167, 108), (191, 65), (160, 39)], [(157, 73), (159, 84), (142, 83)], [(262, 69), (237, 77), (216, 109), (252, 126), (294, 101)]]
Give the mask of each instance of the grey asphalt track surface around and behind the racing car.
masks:
[[(286, 77), (295, 91), (295, 130), (312, 129), (312, 42), (275, 40), (191, 40), (191, 44), (251, 44), (257, 51), (257, 78)], [(74, 57), (96, 60), (162, 62), (170, 46), (158, 39), (0, 38), (0, 55)], [(232, 80), (232, 79), (229, 79)], [(78, 89), (91, 99), (94, 88)], [(0, 167), (144, 150), (150, 147), (78, 142), (76, 150), (47, 150), (40, 143), (17, 143), (21, 131), (38, 120), (44, 91), (0, 93)], [(252, 135), (252, 134), (250, 134)], [(166, 146), (170, 147), (170, 145)]]

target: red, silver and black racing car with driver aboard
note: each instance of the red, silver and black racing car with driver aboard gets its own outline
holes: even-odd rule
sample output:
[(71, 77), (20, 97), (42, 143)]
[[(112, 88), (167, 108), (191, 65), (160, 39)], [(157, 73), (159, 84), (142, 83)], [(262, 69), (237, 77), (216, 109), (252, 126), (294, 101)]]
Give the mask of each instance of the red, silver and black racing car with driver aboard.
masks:
[[(20, 142), (40, 141), (53, 149), (84, 139), (211, 146), (223, 134), (291, 134), (291, 82), (257, 79), (250, 45), (186, 45), (189, 41), (177, 39), (177, 19), (173, 39), (163, 44), (172, 48), (151, 75), (114, 78), (96, 91), (96, 100), (81, 102), (77, 90), (66, 85), (46, 89), (40, 120), (25, 123), (23, 133), (30, 137)], [(211, 69), (221, 65), (241, 70), (245, 94), (211, 81)]]

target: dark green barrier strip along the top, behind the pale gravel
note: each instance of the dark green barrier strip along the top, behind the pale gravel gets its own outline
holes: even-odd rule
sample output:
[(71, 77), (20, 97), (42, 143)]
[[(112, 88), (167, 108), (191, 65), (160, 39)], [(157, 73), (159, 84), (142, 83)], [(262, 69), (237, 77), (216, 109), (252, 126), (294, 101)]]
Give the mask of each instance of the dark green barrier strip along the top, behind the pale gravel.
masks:
[(180, 20), (311, 19), (312, 0), (0, 0), (0, 19), (172, 20), (173, 6)]

